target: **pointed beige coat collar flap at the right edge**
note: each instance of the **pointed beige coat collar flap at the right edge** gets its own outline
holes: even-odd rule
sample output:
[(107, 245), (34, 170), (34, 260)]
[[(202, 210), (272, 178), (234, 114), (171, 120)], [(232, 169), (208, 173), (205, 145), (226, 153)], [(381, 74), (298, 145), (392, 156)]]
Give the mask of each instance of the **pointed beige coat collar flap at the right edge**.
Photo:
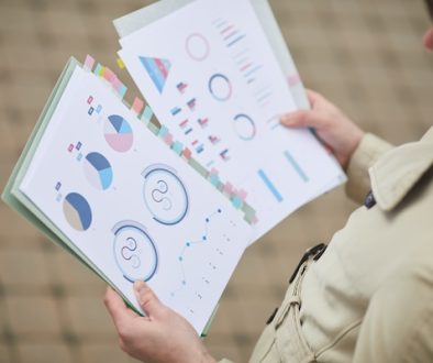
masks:
[(382, 210), (392, 210), (433, 165), (433, 127), (413, 143), (392, 148), (369, 169), (371, 190)]

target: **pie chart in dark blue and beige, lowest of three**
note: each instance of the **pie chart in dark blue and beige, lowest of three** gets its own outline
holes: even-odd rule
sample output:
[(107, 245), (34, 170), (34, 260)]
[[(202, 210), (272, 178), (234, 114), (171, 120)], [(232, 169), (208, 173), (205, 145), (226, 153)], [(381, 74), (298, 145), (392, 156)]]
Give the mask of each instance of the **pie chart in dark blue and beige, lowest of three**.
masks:
[(91, 209), (78, 193), (69, 193), (63, 202), (63, 212), (66, 220), (77, 231), (86, 231), (91, 224)]

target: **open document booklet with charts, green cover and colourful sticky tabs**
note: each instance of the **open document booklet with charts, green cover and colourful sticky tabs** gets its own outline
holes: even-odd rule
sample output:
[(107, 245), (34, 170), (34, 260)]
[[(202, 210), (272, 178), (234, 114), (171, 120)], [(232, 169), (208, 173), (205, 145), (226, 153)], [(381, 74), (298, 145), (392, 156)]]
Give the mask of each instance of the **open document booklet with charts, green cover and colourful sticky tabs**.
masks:
[(345, 175), (279, 125), (307, 101), (266, 1), (164, 0), (115, 26), (146, 102), (70, 58), (2, 198), (135, 311), (141, 279), (202, 333), (245, 249)]

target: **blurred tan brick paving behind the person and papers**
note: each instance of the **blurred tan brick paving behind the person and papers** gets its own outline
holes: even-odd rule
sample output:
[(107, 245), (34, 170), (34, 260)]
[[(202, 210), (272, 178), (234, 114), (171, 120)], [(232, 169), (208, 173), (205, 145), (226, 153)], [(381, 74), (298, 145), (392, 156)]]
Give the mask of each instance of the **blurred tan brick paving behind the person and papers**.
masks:
[[(215, 0), (216, 1), (216, 0)], [(146, 0), (0, 0), (0, 188), (70, 55), (118, 70), (111, 21)], [(400, 144), (432, 125), (433, 54), (422, 0), (270, 0), (304, 84), (364, 129)], [(344, 188), (290, 216), (241, 261), (206, 340), (247, 361), (308, 246), (356, 206)], [(102, 304), (104, 284), (0, 204), (0, 362), (132, 362)]]

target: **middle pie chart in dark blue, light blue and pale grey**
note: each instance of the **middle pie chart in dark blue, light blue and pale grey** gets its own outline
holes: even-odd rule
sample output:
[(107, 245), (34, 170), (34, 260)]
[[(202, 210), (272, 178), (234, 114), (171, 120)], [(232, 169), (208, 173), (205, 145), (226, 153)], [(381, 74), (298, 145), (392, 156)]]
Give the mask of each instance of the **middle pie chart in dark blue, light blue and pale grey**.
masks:
[(113, 182), (113, 169), (108, 160), (99, 153), (86, 156), (85, 174), (89, 183), (99, 190), (108, 189)]

